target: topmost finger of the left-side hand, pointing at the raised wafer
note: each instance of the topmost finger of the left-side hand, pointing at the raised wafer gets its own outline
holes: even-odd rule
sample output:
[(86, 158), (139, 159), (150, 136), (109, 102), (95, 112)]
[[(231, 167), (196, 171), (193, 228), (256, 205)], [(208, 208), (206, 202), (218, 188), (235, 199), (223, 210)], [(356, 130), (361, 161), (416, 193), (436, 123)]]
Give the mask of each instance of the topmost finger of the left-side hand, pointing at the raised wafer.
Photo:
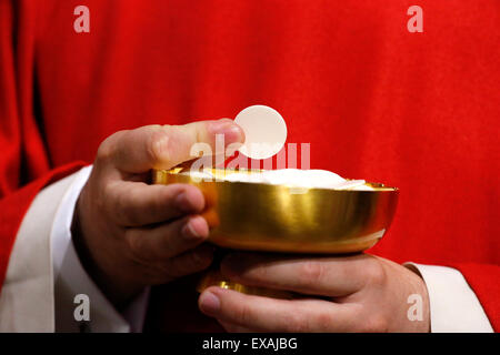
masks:
[(229, 119), (184, 125), (147, 125), (111, 135), (99, 148), (98, 156), (128, 173), (170, 169), (196, 158), (191, 154), (196, 143), (206, 143), (214, 152), (216, 134), (224, 135), (224, 146), (244, 140), (241, 128)]

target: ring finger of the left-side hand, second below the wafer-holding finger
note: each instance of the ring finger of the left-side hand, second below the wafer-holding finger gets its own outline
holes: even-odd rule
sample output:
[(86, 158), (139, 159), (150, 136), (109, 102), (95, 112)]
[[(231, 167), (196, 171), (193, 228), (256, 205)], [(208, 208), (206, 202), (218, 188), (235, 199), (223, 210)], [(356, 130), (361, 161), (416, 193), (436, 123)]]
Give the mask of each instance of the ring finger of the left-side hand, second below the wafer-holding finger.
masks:
[(203, 243), (209, 235), (207, 221), (188, 216), (156, 227), (126, 231), (124, 237), (138, 261), (164, 261)]

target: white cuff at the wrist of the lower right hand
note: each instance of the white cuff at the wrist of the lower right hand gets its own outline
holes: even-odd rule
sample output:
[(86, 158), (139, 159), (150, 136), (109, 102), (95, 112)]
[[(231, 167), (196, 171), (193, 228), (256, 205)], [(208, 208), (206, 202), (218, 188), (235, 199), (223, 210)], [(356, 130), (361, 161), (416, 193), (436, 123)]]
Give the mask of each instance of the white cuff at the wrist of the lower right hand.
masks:
[(456, 268), (413, 266), (422, 276), (429, 293), (432, 333), (492, 333), (490, 322), (472, 288)]

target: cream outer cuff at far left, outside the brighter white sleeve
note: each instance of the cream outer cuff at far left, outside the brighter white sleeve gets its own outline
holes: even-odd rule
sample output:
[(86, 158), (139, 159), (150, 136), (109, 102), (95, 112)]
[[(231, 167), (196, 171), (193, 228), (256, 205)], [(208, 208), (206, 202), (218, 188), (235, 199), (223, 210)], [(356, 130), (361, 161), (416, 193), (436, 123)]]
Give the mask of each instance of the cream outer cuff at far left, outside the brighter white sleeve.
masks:
[(73, 179), (69, 175), (42, 189), (22, 219), (0, 293), (0, 332), (54, 331), (50, 231)]

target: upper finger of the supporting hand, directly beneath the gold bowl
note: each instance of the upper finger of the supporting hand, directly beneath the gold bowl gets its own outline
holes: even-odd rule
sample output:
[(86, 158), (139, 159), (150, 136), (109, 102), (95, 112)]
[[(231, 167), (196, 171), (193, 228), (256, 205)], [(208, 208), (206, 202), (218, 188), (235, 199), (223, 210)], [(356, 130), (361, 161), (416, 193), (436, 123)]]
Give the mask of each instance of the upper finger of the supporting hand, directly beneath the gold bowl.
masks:
[(221, 263), (223, 275), (244, 285), (330, 297), (356, 293), (379, 270), (366, 254), (312, 258), (232, 253)]

